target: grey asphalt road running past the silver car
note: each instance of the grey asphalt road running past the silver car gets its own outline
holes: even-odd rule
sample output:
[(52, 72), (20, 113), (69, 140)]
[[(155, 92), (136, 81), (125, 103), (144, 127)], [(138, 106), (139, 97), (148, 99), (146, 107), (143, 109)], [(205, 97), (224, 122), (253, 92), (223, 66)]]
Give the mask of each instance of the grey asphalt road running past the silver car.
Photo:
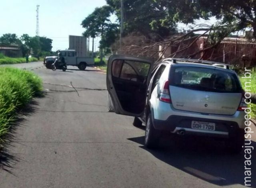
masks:
[(166, 137), (158, 151), (145, 149), (144, 130), (108, 112), (103, 72), (15, 66), (41, 76), (46, 94), (12, 130), (0, 158), (0, 188), (244, 187), (244, 154), (228, 155), (222, 143)]

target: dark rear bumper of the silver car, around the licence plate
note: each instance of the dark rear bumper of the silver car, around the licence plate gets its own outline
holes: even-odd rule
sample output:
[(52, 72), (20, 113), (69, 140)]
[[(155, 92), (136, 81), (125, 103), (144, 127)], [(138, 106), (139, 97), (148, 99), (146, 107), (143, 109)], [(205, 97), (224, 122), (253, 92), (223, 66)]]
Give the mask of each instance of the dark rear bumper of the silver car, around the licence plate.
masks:
[[(154, 116), (153, 116), (154, 117)], [(172, 133), (184, 133), (188, 135), (207, 135), (213, 137), (232, 137), (241, 130), (235, 121), (216, 119), (194, 118), (187, 116), (170, 116), (167, 120), (152, 119), (155, 129), (166, 130)], [(215, 123), (215, 131), (192, 129), (192, 121)]]

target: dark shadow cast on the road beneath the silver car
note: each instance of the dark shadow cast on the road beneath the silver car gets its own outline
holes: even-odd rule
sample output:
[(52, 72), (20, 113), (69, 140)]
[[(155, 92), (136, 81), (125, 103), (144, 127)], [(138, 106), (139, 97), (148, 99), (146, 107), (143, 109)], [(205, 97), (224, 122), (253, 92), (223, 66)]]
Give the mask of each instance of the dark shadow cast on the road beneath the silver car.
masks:
[[(144, 145), (144, 137), (130, 138)], [(164, 138), (160, 141), (158, 150), (142, 149), (150, 152), (154, 157), (164, 163), (178, 168), (192, 176), (200, 178), (218, 186), (230, 186), (234, 184), (244, 185), (245, 158), (244, 151), (239, 155), (228, 154), (224, 144), (220, 141), (202, 138)], [(256, 142), (252, 141), (251, 146), (256, 148)], [(252, 151), (252, 177), (256, 174), (256, 151)], [(256, 187), (255, 178), (248, 179), (252, 182), (249, 187)]]

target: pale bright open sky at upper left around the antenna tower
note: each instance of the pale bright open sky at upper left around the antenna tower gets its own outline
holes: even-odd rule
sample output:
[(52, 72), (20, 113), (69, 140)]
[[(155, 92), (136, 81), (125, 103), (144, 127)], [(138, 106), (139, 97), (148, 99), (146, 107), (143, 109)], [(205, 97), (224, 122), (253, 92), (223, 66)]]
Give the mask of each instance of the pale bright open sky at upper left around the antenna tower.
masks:
[[(68, 35), (82, 35), (82, 20), (105, 0), (1, 0), (0, 36), (5, 33), (36, 35), (36, 5), (39, 7), (39, 35), (51, 38), (52, 51), (68, 48)], [(100, 38), (95, 39), (98, 47)], [(92, 50), (92, 40), (90, 40)]]

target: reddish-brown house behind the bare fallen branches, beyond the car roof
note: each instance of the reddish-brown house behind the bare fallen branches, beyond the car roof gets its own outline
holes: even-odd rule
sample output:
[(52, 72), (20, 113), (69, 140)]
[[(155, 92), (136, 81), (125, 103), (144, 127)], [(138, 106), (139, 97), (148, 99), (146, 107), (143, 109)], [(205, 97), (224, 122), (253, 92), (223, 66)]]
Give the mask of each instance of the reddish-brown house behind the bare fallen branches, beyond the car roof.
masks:
[[(188, 46), (193, 40), (188, 40), (183, 43), (182, 46)], [(172, 45), (168, 47), (164, 53), (164, 58), (175, 54), (174, 57), (187, 57), (198, 51), (210, 47), (211, 44), (208, 41), (208, 37), (200, 37), (193, 45), (188, 49), (176, 53), (179, 47), (178, 45)], [(162, 49), (162, 46), (159, 47)], [(160, 54), (161, 55), (161, 54)], [(198, 53), (193, 59), (202, 59), (208, 61), (218, 61), (228, 63), (232, 65), (255, 67), (256, 66), (256, 41), (248, 40), (245, 38), (224, 38), (217, 46), (207, 51)]]

